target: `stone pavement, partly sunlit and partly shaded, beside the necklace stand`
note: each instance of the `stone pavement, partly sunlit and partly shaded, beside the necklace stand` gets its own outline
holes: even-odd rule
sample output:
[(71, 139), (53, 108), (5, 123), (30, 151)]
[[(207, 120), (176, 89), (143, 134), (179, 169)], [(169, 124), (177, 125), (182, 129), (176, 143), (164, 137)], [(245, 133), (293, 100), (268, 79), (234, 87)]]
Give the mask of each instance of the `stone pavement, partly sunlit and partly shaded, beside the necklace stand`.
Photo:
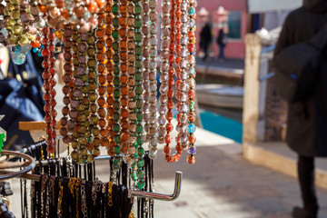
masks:
[[(155, 191), (173, 193), (174, 171), (183, 171), (182, 193), (154, 204), (156, 218), (286, 218), (301, 205), (296, 179), (243, 159), (241, 144), (204, 130), (197, 132), (197, 162), (154, 164)], [(327, 217), (327, 191), (317, 189), (320, 218)]]

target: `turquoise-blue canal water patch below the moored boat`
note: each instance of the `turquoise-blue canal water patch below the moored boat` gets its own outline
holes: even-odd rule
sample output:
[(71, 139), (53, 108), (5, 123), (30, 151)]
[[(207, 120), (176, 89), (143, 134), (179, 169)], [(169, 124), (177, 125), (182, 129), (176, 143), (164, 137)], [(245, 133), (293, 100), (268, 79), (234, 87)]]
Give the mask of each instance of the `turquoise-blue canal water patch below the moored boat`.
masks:
[(200, 117), (203, 123), (203, 129), (214, 134), (223, 135), (242, 144), (243, 124), (208, 111), (201, 112)]

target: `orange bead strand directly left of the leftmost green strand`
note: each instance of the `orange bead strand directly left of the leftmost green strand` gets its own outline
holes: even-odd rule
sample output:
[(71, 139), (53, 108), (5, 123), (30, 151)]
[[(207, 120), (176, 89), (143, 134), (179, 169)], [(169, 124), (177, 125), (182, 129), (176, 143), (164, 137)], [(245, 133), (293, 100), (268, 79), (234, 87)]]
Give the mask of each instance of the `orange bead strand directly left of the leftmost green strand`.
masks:
[(105, 45), (106, 45), (106, 59), (107, 63), (106, 71), (107, 71), (107, 116), (106, 120), (107, 124), (107, 132), (109, 133), (109, 146), (107, 147), (107, 154), (110, 156), (114, 156), (114, 39), (113, 39), (113, 1), (107, 0), (105, 5)]

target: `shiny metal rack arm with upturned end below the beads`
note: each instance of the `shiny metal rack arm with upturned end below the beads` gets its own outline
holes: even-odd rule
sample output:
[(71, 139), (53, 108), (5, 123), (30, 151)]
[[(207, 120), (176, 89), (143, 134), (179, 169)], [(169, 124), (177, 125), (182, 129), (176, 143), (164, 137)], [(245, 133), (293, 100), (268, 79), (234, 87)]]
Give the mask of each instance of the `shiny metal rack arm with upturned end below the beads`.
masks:
[(183, 177), (183, 172), (176, 171), (173, 194), (149, 193), (149, 192), (144, 192), (144, 191), (133, 190), (132, 195), (135, 197), (143, 197), (143, 198), (149, 198), (149, 199), (154, 199), (154, 200), (171, 202), (171, 201), (177, 199), (181, 193), (182, 177)]

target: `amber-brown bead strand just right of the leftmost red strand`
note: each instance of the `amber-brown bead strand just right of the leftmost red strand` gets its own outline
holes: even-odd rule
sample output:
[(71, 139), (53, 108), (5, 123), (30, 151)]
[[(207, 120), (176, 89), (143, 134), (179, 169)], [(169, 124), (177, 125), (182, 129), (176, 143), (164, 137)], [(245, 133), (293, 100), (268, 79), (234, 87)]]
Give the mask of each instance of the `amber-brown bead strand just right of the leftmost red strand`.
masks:
[(73, 75), (73, 60), (72, 60), (72, 47), (73, 47), (73, 30), (70, 25), (64, 25), (64, 87), (63, 87), (63, 103), (64, 107), (62, 109), (63, 117), (60, 119), (60, 124), (62, 125), (60, 129), (60, 134), (63, 136), (64, 144), (69, 144), (71, 142), (71, 135), (68, 134), (68, 129), (72, 129), (73, 126), (68, 124), (68, 113), (69, 113), (69, 104), (70, 98), (69, 94), (71, 93), (72, 87), (72, 75)]

